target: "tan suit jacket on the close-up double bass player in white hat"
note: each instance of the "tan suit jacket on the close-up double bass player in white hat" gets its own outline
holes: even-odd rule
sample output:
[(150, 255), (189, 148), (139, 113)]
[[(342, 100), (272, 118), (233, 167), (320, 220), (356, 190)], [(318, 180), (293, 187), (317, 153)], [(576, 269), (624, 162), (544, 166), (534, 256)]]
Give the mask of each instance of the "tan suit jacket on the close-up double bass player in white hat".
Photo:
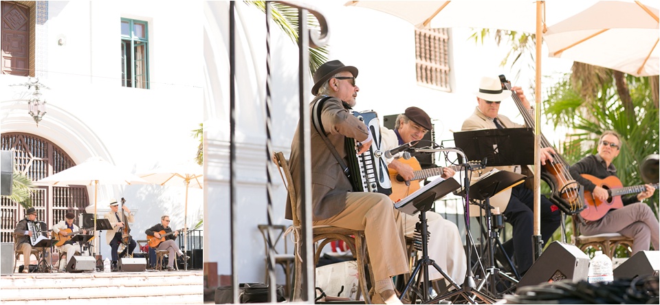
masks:
[[(497, 115), (497, 120), (504, 126), (505, 128), (522, 128), (525, 127), (525, 125), (518, 124), (516, 122), (512, 122), (509, 120), (508, 117), (505, 115)], [(493, 119), (490, 117), (487, 117), (481, 111), (478, 109), (478, 107), (475, 107), (474, 113), (470, 115), (470, 117), (467, 117), (467, 120), (463, 122), (463, 127), (461, 127), (461, 131), (474, 131), (478, 129), (495, 129), (497, 126), (495, 126), (495, 123), (493, 122)], [(470, 156), (467, 156), (470, 157)], [(509, 172), (514, 172), (514, 166), (497, 166), (497, 167), (487, 167), (483, 169), (481, 172), (482, 174), (485, 174), (492, 170), (493, 168), (497, 168), (498, 170), (507, 170)], [(478, 177), (474, 177), (472, 180), (476, 181)], [(500, 192), (499, 194), (496, 194), (495, 196), (492, 196), (490, 199), (490, 205), (494, 207), (500, 207), (500, 212), (504, 212), (507, 204), (509, 204), (509, 199), (511, 198), (511, 189), (505, 190), (504, 192)], [(477, 207), (476, 205), (470, 205), (470, 214), (472, 216), (476, 216), (476, 213), (478, 213), (478, 207), (477, 209), (474, 209), (474, 207)]]

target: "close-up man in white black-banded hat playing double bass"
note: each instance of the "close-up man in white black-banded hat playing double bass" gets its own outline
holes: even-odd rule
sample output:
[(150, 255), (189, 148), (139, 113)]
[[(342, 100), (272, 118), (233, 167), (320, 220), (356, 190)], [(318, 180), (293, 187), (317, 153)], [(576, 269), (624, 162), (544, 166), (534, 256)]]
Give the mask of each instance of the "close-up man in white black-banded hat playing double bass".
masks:
[[(502, 89), (502, 82), (497, 77), (484, 77), (481, 79), (479, 89), (476, 95), (477, 106), (474, 113), (463, 122), (463, 131), (473, 131), (477, 129), (495, 129), (495, 128), (521, 128), (525, 125), (517, 124), (509, 120), (505, 115), (498, 114), (500, 102), (511, 96), (510, 90)], [(529, 105), (525, 93), (520, 87), (511, 88), (514, 91), (522, 106), (531, 112), (533, 109)], [(546, 161), (552, 162), (552, 148), (546, 147), (540, 149), (540, 161), (545, 165)], [(485, 174), (492, 168), (485, 168)], [(520, 173), (520, 166), (501, 166), (498, 170), (508, 170), (509, 172)], [(527, 272), (533, 263), (533, 191), (525, 188), (525, 184), (516, 185), (505, 192), (493, 196), (490, 203), (494, 207), (500, 207), (504, 210), (507, 223), (513, 226), (513, 238), (503, 244), (503, 247), (509, 256), (513, 253), (514, 261), (520, 275)], [(541, 236), (547, 242), (559, 227), (561, 214), (559, 207), (553, 205), (545, 196), (541, 196)], [(504, 208), (503, 208), (504, 207)]]

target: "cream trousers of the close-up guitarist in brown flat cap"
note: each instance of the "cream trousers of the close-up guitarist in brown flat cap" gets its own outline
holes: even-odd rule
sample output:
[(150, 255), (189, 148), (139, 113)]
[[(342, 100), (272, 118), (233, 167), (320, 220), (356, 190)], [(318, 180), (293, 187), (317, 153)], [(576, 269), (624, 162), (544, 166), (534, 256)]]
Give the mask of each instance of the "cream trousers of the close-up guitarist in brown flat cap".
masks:
[[(419, 214), (415, 216), (406, 213), (401, 214), (404, 216), (406, 237), (412, 238), (412, 234), (415, 233), (415, 225), (419, 222)], [(430, 233), (428, 258), (434, 260), (438, 267), (445, 271), (456, 284), (463, 284), (465, 272), (467, 271), (467, 258), (459, 228), (436, 212), (426, 212), (426, 223)], [(418, 254), (421, 256), (421, 251)], [(443, 276), (435, 267), (429, 266), (428, 278), (429, 280), (438, 280)]]

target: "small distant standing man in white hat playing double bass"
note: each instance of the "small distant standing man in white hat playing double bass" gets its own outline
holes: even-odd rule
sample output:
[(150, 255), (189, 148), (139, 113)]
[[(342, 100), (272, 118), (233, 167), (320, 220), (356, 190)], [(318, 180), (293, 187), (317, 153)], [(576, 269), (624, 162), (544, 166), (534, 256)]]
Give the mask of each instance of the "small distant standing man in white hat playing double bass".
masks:
[[(122, 210), (123, 212), (120, 214), (119, 213), (119, 203), (117, 202), (116, 199), (112, 199), (110, 201), (110, 212), (107, 212), (104, 217), (107, 218), (110, 221), (110, 225), (112, 225), (111, 230), (107, 230), (105, 232), (105, 240), (107, 241), (108, 245), (110, 245), (110, 256), (111, 258), (111, 270), (116, 271), (117, 270), (117, 261), (119, 260), (120, 257), (124, 257), (126, 253), (129, 254), (129, 256), (133, 255), (133, 250), (135, 247), (137, 247), (137, 242), (133, 240), (130, 236), (128, 237), (128, 247), (122, 251), (122, 253), (118, 254), (117, 251), (119, 249), (119, 245), (122, 244), (122, 240), (124, 239), (124, 226), (126, 225), (123, 221), (123, 219), (126, 219), (126, 222), (128, 223), (133, 223), (135, 222), (135, 217), (133, 214), (131, 214), (131, 210), (129, 210), (129, 207), (126, 207), (126, 205), (122, 205)], [(128, 252), (126, 252), (128, 250)]]

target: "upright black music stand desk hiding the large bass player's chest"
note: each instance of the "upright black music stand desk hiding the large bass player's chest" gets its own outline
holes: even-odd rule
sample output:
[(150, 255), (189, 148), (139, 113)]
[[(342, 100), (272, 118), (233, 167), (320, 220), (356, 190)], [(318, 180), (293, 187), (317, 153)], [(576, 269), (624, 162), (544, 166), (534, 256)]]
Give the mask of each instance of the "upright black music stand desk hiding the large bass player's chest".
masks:
[(454, 144), (466, 156), (487, 158), (487, 166), (516, 166), (534, 163), (532, 128), (481, 129), (454, 133)]

